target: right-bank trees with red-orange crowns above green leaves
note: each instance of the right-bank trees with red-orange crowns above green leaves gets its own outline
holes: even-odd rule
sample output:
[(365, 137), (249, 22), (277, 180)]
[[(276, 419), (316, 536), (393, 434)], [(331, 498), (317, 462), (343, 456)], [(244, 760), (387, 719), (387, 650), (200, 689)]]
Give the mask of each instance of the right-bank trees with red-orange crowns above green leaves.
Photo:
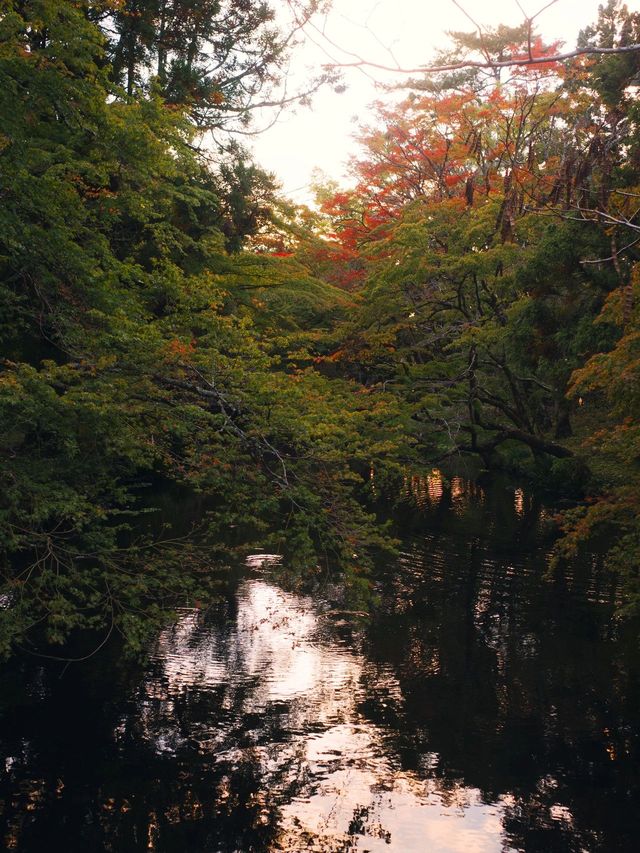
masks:
[[(639, 20), (611, 0), (580, 46), (637, 43)], [(555, 49), (451, 36), (441, 62)], [(510, 74), (410, 80), (361, 130), (355, 185), (322, 198), (361, 281), (325, 369), (391, 391), (423, 462), (477, 455), (585, 501), (558, 561), (604, 548), (636, 607), (638, 54)]]

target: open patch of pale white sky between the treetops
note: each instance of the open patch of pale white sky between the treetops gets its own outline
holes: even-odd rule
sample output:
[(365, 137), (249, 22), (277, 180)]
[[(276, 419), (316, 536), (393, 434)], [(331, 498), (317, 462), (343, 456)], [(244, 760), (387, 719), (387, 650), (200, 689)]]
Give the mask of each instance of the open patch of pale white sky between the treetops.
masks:
[[(573, 47), (579, 30), (597, 18), (604, 0), (557, 0), (537, 19), (545, 41), (562, 39)], [(529, 15), (545, 0), (520, 0)], [(522, 12), (515, 0), (462, 0), (469, 14), (481, 24), (518, 24)], [(630, 9), (638, 0), (628, 0)], [(308, 40), (298, 50), (291, 77), (302, 80), (305, 69), (317, 70), (332, 58), (349, 61), (353, 51), (374, 62), (402, 66), (428, 61), (437, 47), (446, 47), (447, 30), (470, 31), (470, 21), (451, 0), (333, 0), (326, 20), (308, 29)], [(328, 38), (322, 35), (322, 29)], [(315, 44), (313, 43), (315, 42)], [(342, 53), (335, 45), (343, 49)], [(401, 75), (369, 71), (377, 80), (390, 82)], [(254, 138), (253, 149), (261, 166), (275, 172), (284, 192), (294, 201), (309, 202), (309, 182), (315, 168), (328, 177), (344, 178), (345, 165), (357, 150), (351, 135), (358, 122), (366, 122), (368, 105), (382, 97), (371, 77), (357, 69), (346, 69), (347, 91), (338, 95), (327, 89), (313, 99), (312, 108), (285, 112), (270, 130)]]

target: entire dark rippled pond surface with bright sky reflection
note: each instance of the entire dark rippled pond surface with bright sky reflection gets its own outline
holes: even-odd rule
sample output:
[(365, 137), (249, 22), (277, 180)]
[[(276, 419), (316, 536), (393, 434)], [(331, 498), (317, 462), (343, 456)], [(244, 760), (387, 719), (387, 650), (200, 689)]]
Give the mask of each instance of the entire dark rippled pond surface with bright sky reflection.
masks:
[(406, 491), (420, 511), (369, 623), (256, 555), (145, 668), (5, 673), (5, 847), (640, 849), (639, 656), (612, 580), (586, 561), (543, 581), (544, 511), (520, 490)]

